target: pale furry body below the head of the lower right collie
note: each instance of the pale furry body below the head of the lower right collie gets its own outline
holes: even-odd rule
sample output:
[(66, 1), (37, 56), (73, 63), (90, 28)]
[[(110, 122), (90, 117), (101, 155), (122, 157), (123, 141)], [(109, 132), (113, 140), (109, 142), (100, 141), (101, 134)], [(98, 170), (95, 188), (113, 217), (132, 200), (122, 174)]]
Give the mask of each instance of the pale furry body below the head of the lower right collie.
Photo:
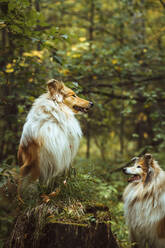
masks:
[(138, 242), (140, 245), (136, 247), (139, 248), (165, 248), (165, 236), (159, 237), (158, 234), (159, 222), (165, 218), (165, 172), (156, 161), (154, 164), (157, 175), (153, 171), (152, 180), (147, 185), (130, 183), (123, 195), (131, 240)]

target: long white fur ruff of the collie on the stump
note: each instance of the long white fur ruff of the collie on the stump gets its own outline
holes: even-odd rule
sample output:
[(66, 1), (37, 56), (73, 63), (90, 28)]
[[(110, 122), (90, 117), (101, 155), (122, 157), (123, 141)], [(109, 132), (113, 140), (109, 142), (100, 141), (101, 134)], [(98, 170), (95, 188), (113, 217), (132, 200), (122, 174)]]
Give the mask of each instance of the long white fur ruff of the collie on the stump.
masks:
[(20, 141), (24, 147), (31, 141), (39, 145), (40, 179), (44, 183), (49, 183), (52, 178), (69, 169), (82, 136), (72, 110), (61, 99), (59, 102), (53, 101), (48, 93), (36, 99)]

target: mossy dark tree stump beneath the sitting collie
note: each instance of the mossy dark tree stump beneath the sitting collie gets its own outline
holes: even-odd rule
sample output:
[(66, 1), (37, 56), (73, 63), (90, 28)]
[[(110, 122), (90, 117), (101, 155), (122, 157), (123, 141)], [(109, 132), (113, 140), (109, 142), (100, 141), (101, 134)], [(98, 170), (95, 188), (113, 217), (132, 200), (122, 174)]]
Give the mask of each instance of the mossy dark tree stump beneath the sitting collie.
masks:
[(57, 212), (42, 204), (18, 216), (5, 248), (118, 248), (107, 207), (88, 206), (77, 219)]

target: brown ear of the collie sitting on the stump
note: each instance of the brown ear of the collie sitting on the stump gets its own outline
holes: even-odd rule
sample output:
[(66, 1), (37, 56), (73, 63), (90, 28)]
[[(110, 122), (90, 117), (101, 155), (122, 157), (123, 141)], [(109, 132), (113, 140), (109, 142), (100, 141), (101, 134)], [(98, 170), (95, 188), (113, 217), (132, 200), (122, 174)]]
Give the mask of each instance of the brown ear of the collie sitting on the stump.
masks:
[[(48, 90), (52, 98), (55, 98), (55, 95), (61, 92), (64, 87), (64, 84), (56, 79), (50, 79), (47, 82)], [(55, 99), (54, 99), (55, 100)]]

